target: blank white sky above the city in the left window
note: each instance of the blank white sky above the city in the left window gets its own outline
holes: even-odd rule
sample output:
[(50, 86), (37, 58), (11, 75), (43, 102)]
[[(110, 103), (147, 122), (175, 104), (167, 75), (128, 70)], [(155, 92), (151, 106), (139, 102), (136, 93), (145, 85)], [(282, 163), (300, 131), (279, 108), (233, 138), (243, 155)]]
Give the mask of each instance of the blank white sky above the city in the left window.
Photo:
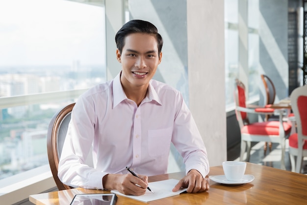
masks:
[(0, 0), (0, 66), (104, 64), (104, 18), (68, 0)]

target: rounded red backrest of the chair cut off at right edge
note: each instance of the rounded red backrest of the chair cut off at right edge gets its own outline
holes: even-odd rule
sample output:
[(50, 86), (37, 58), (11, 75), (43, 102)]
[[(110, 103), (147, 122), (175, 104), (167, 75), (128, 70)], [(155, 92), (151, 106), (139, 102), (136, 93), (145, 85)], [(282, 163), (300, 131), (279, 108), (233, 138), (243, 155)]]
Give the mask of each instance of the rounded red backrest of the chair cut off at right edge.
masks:
[(295, 88), (290, 99), (297, 124), (298, 146), (303, 147), (304, 139), (307, 140), (307, 85)]

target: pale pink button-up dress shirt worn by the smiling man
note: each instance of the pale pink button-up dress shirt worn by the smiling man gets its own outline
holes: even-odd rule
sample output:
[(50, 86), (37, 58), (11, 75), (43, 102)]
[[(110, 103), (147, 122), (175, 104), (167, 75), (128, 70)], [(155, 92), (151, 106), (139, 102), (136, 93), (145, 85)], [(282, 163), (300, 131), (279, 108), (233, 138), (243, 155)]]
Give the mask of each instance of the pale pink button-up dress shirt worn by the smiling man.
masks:
[[(127, 98), (118, 74), (78, 98), (58, 176), (73, 187), (103, 189), (103, 176), (127, 174), (127, 166), (140, 175), (165, 174), (171, 142), (183, 157), (186, 173), (196, 169), (203, 177), (208, 174), (206, 148), (181, 93), (151, 80), (137, 106)], [(94, 168), (85, 164), (88, 154)]]

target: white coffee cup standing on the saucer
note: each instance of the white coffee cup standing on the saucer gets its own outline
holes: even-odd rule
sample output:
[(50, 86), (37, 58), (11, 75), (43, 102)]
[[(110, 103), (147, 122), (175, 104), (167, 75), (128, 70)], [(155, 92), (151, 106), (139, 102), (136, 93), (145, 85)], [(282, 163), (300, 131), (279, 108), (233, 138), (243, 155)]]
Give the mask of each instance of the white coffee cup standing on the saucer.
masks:
[(229, 181), (239, 181), (245, 174), (246, 163), (239, 161), (223, 162), (224, 174)]

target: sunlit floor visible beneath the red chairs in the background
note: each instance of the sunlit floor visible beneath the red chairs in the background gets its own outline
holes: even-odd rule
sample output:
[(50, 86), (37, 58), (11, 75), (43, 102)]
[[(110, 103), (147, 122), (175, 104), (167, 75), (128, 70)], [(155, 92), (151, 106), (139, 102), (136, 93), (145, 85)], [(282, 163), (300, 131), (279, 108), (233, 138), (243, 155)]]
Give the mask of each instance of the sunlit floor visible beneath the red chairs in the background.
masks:
[[(288, 145), (287, 141), (286, 141), (286, 145)], [(281, 168), (281, 147), (278, 144), (273, 144), (272, 150), (270, 151), (268, 149), (266, 151), (266, 154), (264, 154), (263, 146), (264, 146), (264, 142), (252, 144), (250, 162), (280, 169)], [(240, 144), (228, 150), (227, 155), (228, 155), (228, 160), (239, 161)], [(285, 167), (287, 171), (291, 171), (291, 163), (290, 163), (290, 157), (289, 157), (289, 152), (288, 152), (288, 146), (286, 146), (286, 152), (285, 152)], [(304, 158), (302, 168), (303, 168), (303, 173), (307, 174), (307, 158)]]

